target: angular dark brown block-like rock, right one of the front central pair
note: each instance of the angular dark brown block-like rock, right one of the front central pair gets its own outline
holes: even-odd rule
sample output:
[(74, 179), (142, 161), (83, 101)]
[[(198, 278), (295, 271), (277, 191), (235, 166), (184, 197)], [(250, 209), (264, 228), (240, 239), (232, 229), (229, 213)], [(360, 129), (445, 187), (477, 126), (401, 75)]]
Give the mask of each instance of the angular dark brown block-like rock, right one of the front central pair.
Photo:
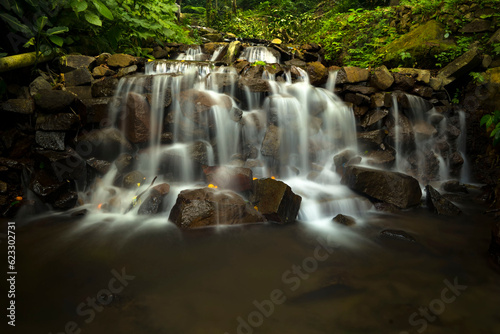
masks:
[(285, 183), (274, 179), (254, 181), (252, 202), (268, 220), (292, 223), (299, 213), (302, 197), (296, 195)]

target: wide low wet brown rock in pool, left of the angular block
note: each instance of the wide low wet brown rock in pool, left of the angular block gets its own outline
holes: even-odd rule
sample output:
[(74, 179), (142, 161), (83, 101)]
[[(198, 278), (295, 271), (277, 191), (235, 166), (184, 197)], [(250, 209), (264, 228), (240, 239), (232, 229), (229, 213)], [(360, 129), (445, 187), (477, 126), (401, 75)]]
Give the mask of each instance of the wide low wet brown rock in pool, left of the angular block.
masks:
[(238, 194), (210, 188), (181, 191), (169, 220), (184, 230), (266, 221)]

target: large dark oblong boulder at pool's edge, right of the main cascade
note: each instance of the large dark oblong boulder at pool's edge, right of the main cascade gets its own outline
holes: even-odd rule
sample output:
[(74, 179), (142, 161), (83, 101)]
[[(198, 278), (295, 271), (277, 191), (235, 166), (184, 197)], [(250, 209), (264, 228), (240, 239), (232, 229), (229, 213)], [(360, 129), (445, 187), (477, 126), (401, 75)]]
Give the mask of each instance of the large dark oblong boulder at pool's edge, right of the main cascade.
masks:
[(418, 181), (398, 172), (349, 166), (342, 183), (354, 191), (402, 209), (419, 205), (422, 198)]

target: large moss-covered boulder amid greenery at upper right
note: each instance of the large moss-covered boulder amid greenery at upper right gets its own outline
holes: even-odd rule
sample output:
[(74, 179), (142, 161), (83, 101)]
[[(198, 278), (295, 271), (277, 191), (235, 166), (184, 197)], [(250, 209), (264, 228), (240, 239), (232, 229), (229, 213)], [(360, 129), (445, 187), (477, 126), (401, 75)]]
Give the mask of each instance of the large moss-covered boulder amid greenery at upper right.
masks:
[(388, 66), (400, 65), (403, 62), (401, 53), (407, 52), (413, 64), (434, 67), (434, 55), (456, 47), (453, 41), (445, 40), (444, 35), (444, 26), (431, 20), (379, 49), (379, 53), (385, 54), (384, 63)]

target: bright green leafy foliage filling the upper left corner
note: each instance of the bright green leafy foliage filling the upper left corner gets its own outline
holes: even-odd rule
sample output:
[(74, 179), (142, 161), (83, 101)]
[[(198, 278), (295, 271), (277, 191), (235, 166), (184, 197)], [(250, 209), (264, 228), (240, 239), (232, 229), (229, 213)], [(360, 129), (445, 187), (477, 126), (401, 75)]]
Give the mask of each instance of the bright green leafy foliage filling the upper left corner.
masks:
[(44, 54), (75, 42), (81, 45), (84, 39), (93, 40), (94, 52), (136, 55), (155, 39), (192, 43), (176, 23), (174, 0), (3, 0), (0, 4), (4, 7), (0, 19), (10, 32), (22, 35), (25, 47)]

